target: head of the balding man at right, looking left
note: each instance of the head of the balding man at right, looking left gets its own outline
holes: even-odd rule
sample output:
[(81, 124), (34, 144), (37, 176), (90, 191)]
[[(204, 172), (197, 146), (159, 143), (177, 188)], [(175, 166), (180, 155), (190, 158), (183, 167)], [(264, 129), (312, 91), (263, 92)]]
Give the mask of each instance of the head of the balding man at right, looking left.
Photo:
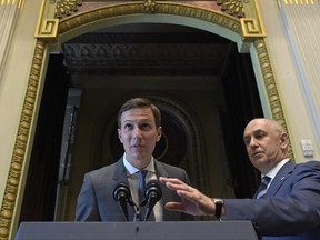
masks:
[(246, 127), (243, 140), (252, 164), (267, 173), (287, 157), (288, 136), (268, 119), (254, 119)]

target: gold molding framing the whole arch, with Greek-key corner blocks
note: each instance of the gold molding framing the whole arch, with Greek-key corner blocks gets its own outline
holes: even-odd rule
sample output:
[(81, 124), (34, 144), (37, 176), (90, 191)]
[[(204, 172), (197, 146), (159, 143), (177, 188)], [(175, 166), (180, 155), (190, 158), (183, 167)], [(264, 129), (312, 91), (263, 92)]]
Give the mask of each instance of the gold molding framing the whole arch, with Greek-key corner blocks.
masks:
[[(251, 1), (251, 4), (253, 3)], [(44, 12), (43, 9), (44, 7), (42, 12)], [(1, 206), (1, 240), (11, 239), (18, 227), (24, 181), (28, 176), (34, 122), (38, 113), (37, 109), (39, 108), (39, 101), (37, 100), (41, 98), (41, 86), (43, 72), (46, 72), (48, 52), (50, 52), (52, 46), (57, 47), (57, 44), (64, 42), (66, 39), (71, 39), (88, 30), (106, 27), (106, 24), (157, 21), (160, 23), (191, 26), (222, 36), (237, 42), (239, 51), (243, 51), (243, 49), (248, 51), (248, 44), (252, 46), (254, 56), (254, 58), (252, 57), (252, 62), (258, 68), (257, 74), (259, 74), (256, 78), (257, 81), (261, 81), (268, 101), (267, 106), (269, 109), (266, 111), (287, 128), (259, 14), (258, 18), (239, 19), (223, 12), (190, 4), (156, 2), (154, 0), (101, 7), (87, 12), (74, 13), (64, 19), (50, 19), (43, 16), (42, 12), (40, 13), (41, 20), (39, 20), (37, 27), (37, 43)]]

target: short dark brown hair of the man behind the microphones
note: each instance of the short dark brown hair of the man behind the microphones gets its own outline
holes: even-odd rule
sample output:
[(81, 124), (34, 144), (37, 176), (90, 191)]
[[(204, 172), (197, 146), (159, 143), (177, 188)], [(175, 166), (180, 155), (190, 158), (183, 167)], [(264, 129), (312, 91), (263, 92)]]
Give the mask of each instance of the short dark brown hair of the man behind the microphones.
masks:
[(134, 109), (134, 108), (150, 108), (153, 117), (154, 117), (154, 121), (156, 121), (156, 127), (159, 128), (161, 126), (161, 112), (160, 110), (157, 108), (157, 106), (154, 106), (149, 99), (146, 98), (133, 98), (133, 99), (129, 99), (128, 101), (126, 101), (119, 112), (118, 112), (118, 127), (121, 128), (121, 116), (124, 111), (129, 111), (130, 109)]

